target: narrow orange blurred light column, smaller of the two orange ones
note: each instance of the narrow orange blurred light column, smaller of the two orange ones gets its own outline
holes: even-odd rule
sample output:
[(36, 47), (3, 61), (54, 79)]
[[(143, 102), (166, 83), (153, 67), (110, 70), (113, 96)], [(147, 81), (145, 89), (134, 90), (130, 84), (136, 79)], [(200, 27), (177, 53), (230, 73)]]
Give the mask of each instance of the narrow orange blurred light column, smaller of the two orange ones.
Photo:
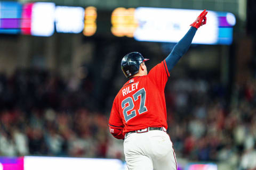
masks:
[(97, 30), (97, 9), (93, 6), (85, 8), (84, 11), (84, 31), (83, 35), (93, 36)]

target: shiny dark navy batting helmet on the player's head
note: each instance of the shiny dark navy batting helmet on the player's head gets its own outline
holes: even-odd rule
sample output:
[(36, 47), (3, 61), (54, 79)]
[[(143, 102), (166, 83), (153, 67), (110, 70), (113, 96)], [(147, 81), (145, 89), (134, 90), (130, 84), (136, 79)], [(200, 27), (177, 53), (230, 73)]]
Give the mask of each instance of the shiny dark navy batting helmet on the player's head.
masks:
[(121, 61), (121, 67), (125, 77), (130, 78), (132, 75), (138, 73), (140, 64), (147, 60), (149, 59), (143, 58), (143, 56), (138, 52), (126, 54)]

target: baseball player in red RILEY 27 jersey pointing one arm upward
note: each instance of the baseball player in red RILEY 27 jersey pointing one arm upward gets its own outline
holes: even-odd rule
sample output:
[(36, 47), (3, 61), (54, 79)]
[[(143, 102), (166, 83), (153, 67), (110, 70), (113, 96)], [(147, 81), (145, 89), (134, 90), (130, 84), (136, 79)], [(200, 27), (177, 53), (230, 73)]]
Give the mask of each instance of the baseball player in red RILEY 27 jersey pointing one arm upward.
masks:
[(148, 73), (148, 59), (138, 52), (125, 55), (121, 61), (127, 81), (114, 99), (109, 131), (124, 139), (124, 155), (129, 170), (177, 169), (173, 143), (166, 133), (164, 88), (170, 71), (185, 54), (199, 27), (206, 24), (204, 10), (186, 35), (164, 61)]

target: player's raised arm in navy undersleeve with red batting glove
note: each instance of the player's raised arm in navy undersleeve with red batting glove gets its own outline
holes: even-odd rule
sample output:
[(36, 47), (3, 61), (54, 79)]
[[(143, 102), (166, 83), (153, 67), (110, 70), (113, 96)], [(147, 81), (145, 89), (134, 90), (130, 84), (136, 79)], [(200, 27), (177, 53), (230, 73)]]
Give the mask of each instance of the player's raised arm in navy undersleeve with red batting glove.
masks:
[(194, 23), (190, 24), (191, 28), (188, 30), (186, 35), (177, 43), (172, 52), (165, 58), (166, 66), (170, 72), (175, 64), (178, 63), (180, 58), (187, 52), (188, 48), (191, 45), (191, 42), (196, 34), (196, 31), (199, 27), (206, 24), (206, 15), (207, 12), (204, 10), (195, 20)]

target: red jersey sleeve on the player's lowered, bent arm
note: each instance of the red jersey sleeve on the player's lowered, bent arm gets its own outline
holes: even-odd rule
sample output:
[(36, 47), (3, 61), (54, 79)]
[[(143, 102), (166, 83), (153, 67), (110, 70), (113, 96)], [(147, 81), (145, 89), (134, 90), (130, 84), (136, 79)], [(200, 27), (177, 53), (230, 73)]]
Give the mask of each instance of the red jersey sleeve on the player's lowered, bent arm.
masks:
[(124, 139), (123, 129), (124, 124), (122, 122), (122, 119), (119, 115), (118, 108), (116, 107), (116, 99), (114, 100), (110, 117), (108, 121), (109, 125), (109, 132), (117, 139)]

